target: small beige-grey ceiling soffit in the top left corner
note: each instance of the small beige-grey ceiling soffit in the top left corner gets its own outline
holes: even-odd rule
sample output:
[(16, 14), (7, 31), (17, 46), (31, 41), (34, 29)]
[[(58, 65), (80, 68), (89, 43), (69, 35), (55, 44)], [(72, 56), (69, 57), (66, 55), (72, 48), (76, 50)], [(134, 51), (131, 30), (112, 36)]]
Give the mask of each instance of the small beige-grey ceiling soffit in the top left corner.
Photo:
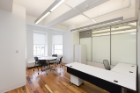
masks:
[(0, 9), (12, 12), (13, 0), (0, 0)]

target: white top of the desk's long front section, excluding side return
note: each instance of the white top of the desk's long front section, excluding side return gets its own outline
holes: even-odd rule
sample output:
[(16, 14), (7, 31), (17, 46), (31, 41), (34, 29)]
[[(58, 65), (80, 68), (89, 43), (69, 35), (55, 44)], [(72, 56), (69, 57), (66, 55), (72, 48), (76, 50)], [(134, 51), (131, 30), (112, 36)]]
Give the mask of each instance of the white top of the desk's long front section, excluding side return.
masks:
[[(125, 64), (123, 64), (124, 67), (122, 69), (122, 73), (120, 73), (121, 70), (118, 70), (120, 65), (121, 64), (116, 65), (116, 67), (114, 67), (113, 71), (81, 64), (78, 62), (69, 63), (69, 64), (66, 64), (65, 66), (73, 68), (75, 70), (79, 70), (81, 72), (84, 72), (86, 74), (89, 74), (89, 75), (92, 75), (92, 76), (95, 76), (98, 78), (101, 78), (103, 80), (120, 85), (122, 87), (136, 90), (136, 72), (127, 73), (127, 70), (123, 71), (124, 69), (128, 69), (128, 71), (129, 71), (129, 68), (125, 68), (125, 66), (124, 66)], [(136, 66), (135, 66), (135, 69), (136, 69)], [(126, 72), (126, 74), (124, 74), (125, 72)], [(114, 80), (117, 80), (118, 83), (114, 82)]]

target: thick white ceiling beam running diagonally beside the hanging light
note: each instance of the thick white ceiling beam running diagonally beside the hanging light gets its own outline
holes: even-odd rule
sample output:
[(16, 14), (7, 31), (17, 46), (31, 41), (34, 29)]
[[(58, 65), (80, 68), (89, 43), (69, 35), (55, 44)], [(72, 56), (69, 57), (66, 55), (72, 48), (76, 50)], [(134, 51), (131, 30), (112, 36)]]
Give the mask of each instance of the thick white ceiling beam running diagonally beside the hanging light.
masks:
[[(96, 1), (96, 2), (95, 2)], [(75, 8), (78, 9), (81, 12), (85, 12), (89, 9), (92, 9), (98, 5), (101, 5), (109, 0), (86, 0), (85, 2), (81, 3), (80, 5), (76, 6)], [(90, 5), (91, 4), (91, 5)], [(87, 5), (90, 5), (86, 7)], [(64, 13), (63, 15), (59, 16), (58, 18), (52, 20), (51, 22), (45, 24), (45, 27), (52, 27), (54, 25), (57, 25), (61, 22), (64, 22), (70, 18), (73, 18), (75, 16), (79, 15), (78, 12), (74, 11), (73, 9), (69, 10), (68, 12)]]

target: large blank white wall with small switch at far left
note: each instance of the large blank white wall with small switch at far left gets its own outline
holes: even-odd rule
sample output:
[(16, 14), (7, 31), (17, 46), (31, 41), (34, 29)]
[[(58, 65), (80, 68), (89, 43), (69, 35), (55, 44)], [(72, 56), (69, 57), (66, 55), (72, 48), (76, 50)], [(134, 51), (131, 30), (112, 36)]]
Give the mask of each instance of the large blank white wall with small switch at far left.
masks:
[(25, 8), (16, 4), (13, 12), (0, 10), (0, 93), (26, 84), (25, 17)]

